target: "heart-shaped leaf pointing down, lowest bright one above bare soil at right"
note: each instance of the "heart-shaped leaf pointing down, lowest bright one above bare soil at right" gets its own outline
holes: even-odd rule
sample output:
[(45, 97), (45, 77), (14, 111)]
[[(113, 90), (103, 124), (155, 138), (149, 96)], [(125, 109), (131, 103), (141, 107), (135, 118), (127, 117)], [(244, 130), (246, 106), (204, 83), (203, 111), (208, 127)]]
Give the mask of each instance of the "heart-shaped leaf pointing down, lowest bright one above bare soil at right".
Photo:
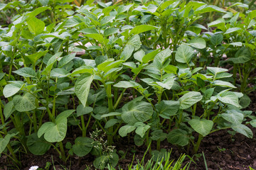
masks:
[(193, 130), (203, 135), (203, 137), (208, 135), (210, 133), (210, 130), (212, 130), (213, 128), (213, 121), (206, 119), (192, 119), (188, 121), (188, 124), (191, 125)]

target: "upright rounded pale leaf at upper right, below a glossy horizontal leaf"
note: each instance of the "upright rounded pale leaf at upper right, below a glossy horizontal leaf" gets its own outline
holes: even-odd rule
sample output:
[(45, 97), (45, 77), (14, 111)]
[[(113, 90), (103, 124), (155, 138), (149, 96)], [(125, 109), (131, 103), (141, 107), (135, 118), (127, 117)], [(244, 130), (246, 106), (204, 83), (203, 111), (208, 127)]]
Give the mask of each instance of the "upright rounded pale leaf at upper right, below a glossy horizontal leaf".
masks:
[(188, 45), (181, 45), (178, 47), (178, 50), (175, 55), (175, 60), (177, 62), (186, 63), (189, 65), (189, 62), (191, 61), (194, 54), (194, 50), (192, 47), (189, 47)]

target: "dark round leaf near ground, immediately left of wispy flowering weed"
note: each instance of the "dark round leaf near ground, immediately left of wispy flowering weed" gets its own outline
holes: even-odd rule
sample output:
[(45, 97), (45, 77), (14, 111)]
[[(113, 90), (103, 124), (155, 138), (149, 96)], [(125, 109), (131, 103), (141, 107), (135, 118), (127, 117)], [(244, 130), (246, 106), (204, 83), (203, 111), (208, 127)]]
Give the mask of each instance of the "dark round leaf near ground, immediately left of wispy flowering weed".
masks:
[(92, 140), (89, 137), (77, 137), (75, 139), (75, 145), (73, 145), (73, 152), (78, 155), (78, 157), (85, 157), (92, 150)]

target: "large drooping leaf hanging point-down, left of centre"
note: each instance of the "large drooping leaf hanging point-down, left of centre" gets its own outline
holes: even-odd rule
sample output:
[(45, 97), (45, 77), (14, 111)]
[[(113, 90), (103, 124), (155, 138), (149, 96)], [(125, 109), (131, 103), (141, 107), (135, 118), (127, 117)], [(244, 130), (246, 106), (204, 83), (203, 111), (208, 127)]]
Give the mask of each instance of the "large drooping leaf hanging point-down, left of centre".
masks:
[(85, 73), (82, 74), (78, 80), (75, 82), (75, 94), (78, 96), (80, 102), (85, 107), (87, 98), (90, 91), (90, 85), (92, 80), (95, 77), (95, 74)]

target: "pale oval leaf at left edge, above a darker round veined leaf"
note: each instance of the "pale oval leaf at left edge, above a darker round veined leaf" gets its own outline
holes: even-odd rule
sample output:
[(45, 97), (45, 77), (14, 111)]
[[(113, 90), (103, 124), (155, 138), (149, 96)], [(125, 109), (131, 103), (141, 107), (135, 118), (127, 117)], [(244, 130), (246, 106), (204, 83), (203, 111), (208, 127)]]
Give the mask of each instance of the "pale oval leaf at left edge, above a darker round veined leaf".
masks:
[(14, 81), (11, 84), (7, 84), (4, 86), (3, 94), (5, 98), (9, 98), (14, 96), (14, 94), (18, 93), (21, 90), (24, 83), (22, 81)]

